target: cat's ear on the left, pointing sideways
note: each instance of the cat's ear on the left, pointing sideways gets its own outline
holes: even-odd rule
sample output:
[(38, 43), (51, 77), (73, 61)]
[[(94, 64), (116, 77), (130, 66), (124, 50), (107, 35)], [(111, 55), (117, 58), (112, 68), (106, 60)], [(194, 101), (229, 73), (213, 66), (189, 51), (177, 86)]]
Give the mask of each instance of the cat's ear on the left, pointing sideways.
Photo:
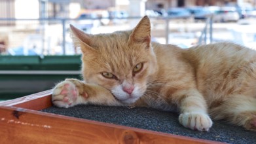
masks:
[(70, 29), (74, 45), (80, 46), (83, 54), (96, 52), (96, 49), (92, 48), (92, 35), (84, 33), (73, 25), (70, 25)]

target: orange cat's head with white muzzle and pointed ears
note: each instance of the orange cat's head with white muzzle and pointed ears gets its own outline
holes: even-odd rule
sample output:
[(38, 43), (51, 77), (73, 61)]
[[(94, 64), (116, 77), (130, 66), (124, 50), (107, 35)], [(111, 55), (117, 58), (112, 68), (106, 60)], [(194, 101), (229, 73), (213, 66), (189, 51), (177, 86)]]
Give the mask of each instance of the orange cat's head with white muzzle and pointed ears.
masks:
[(90, 35), (73, 26), (71, 30), (82, 50), (84, 81), (110, 90), (122, 103), (134, 103), (143, 96), (157, 69), (147, 16), (131, 31)]

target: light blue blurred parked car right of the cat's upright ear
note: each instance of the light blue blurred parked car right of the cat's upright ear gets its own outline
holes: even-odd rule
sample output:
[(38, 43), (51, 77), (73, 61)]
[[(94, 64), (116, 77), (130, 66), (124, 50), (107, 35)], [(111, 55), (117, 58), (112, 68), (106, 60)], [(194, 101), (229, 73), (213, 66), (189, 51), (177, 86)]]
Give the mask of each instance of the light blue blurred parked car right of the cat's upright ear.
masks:
[(171, 18), (187, 19), (191, 17), (191, 12), (185, 8), (171, 8), (167, 10), (167, 14)]

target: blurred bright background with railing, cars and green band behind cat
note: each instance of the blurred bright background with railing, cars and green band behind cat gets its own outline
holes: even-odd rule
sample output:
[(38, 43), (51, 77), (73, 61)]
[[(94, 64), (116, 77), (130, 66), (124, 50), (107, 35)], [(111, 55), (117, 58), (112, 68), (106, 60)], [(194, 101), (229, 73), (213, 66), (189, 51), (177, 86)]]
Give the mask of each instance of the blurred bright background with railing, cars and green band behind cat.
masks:
[(0, 99), (81, 79), (69, 24), (111, 33), (151, 19), (152, 41), (181, 48), (232, 41), (256, 48), (256, 0), (0, 0)]

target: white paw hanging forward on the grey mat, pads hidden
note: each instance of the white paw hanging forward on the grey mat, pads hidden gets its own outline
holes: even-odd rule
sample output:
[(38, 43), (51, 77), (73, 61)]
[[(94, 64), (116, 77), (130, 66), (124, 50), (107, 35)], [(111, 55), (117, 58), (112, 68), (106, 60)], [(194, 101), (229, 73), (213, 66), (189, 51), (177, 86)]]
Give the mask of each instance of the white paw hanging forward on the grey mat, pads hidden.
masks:
[(204, 113), (181, 113), (179, 122), (192, 130), (208, 131), (213, 122), (211, 118)]

